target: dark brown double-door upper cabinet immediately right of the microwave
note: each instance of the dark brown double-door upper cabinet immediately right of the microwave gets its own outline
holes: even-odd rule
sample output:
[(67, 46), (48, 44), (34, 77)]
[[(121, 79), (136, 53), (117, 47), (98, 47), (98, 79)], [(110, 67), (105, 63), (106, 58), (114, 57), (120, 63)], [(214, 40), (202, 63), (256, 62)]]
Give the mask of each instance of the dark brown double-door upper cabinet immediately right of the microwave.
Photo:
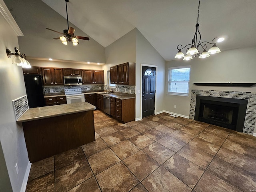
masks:
[(82, 69), (83, 84), (104, 84), (104, 70)]

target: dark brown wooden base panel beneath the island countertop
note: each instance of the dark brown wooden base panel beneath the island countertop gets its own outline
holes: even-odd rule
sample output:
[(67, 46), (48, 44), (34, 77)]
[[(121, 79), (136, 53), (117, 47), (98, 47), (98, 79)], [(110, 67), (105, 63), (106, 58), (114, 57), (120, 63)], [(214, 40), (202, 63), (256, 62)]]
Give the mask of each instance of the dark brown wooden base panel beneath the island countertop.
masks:
[(32, 163), (95, 141), (93, 110), (23, 122), (22, 126)]

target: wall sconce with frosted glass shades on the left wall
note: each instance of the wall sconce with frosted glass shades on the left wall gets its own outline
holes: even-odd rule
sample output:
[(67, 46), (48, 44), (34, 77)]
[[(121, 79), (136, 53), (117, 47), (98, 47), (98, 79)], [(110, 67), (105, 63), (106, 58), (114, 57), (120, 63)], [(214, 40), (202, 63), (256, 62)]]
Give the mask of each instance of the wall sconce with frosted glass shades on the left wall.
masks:
[(26, 55), (20, 54), (20, 51), (16, 47), (14, 47), (14, 50), (15, 53), (12, 53), (9, 49), (6, 49), (6, 54), (8, 58), (11, 58), (12, 55), (14, 55), (14, 58), (12, 59), (12, 64), (22, 66), (22, 68), (31, 68), (30, 63), (28, 62), (28, 60), (26, 60)]

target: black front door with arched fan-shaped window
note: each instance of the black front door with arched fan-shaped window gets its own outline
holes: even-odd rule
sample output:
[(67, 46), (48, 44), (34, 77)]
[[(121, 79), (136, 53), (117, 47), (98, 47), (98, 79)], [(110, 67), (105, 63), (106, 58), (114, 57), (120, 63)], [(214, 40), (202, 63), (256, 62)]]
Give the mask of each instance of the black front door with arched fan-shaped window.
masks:
[(142, 118), (154, 115), (156, 68), (142, 66)]

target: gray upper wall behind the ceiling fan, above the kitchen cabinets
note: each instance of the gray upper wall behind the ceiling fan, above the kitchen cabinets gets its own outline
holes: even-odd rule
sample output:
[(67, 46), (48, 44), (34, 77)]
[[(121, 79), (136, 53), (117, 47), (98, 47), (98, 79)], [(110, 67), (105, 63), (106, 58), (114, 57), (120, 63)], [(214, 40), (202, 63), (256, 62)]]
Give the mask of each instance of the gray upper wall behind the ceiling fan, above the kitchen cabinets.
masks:
[[(77, 46), (71, 42), (65, 46), (60, 40), (54, 40), (62, 35), (46, 28), (62, 33), (68, 28), (67, 20), (41, 0), (5, 0), (5, 3), (13, 9), (11, 13), (16, 16), (15, 20), (24, 34), (18, 41), (20, 51), (26, 56), (105, 63), (104, 47), (92, 38), (89, 41), (79, 40)], [(88, 37), (73, 24), (70, 26), (76, 29), (74, 34)]]

